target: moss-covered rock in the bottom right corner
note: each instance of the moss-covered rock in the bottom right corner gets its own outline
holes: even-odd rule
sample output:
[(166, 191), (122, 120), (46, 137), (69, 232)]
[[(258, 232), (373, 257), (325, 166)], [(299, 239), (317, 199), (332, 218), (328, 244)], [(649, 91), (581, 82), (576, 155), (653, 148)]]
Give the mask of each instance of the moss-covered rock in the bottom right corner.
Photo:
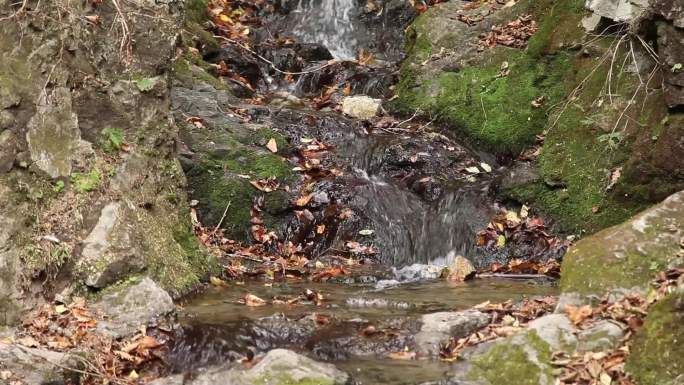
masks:
[[(655, 304), (632, 344), (625, 370), (640, 385), (676, 385), (684, 376), (684, 291)], [(677, 381), (678, 380), (678, 381)]]

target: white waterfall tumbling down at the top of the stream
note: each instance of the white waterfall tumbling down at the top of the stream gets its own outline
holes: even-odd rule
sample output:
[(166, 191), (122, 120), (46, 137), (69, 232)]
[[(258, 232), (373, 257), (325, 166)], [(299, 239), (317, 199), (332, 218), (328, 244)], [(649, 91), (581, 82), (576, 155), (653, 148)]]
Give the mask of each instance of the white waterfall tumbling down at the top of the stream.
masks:
[(336, 59), (354, 59), (360, 48), (357, 9), (355, 0), (299, 0), (291, 33), (301, 42), (326, 46)]

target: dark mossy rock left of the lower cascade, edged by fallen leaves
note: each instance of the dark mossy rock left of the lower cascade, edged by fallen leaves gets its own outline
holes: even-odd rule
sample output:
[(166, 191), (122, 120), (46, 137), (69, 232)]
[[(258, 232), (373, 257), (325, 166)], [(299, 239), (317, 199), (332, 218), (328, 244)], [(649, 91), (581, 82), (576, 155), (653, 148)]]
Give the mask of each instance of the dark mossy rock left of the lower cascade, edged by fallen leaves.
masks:
[(274, 138), (279, 149), (287, 151), (289, 144), (282, 135), (235, 123), (230, 129), (192, 130), (189, 135), (196, 156), (186, 166), (186, 173), (191, 196), (199, 201), (202, 223), (216, 226), (220, 222), (228, 236), (248, 240), (250, 210), (255, 198), (264, 195), (262, 219), (267, 228), (278, 230), (282, 221), (279, 214), (288, 208), (289, 194), (281, 190), (264, 194), (250, 181), (270, 177), (283, 185), (294, 181), (287, 160), (262, 147)]

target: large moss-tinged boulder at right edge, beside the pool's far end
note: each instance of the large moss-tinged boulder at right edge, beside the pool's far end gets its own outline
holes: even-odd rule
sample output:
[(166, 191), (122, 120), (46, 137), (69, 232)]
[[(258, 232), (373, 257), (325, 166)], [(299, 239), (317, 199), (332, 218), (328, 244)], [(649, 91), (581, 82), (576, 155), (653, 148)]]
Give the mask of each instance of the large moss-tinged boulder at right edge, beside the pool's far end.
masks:
[(676, 193), (630, 220), (586, 237), (563, 259), (565, 293), (598, 294), (644, 290), (682, 250), (684, 192)]

